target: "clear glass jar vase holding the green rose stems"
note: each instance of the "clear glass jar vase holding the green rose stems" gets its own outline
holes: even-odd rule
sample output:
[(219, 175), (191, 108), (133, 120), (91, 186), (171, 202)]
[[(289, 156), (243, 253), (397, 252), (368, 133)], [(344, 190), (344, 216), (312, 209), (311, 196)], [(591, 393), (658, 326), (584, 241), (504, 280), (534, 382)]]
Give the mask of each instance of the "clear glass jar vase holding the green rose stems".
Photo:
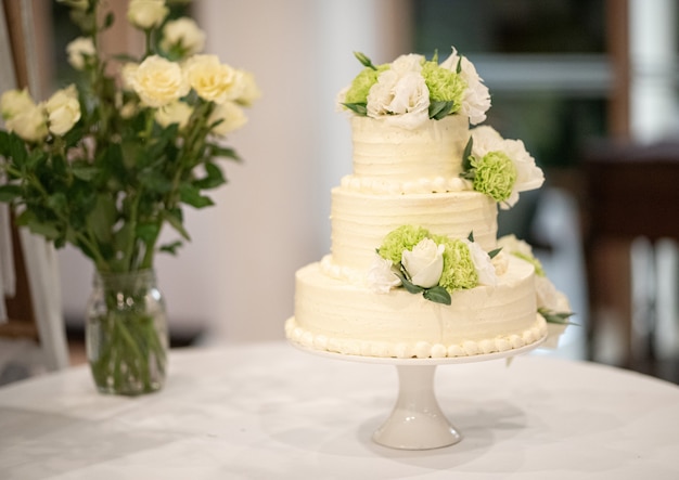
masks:
[(102, 393), (139, 395), (163, 388), (168, 328), (153, 270), (94, 275), (86, 313), (90, 371)]

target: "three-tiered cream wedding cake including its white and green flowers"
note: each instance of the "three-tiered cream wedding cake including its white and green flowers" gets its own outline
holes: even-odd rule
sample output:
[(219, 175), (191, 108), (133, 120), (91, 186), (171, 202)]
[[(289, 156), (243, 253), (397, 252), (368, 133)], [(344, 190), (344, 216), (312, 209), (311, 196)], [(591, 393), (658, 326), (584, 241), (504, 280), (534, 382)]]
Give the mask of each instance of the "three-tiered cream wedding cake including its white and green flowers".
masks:
[(332, 190), (331, 252), (296, 273), (287, 338), (381, 358), (504, 352), (563, 329), (565, 297), (497, 206), (542, 184), (521, 141), (485, 120), (487, 88), (452, 51), (364, 69), (340, 94), (350, 112), (353, 174)]

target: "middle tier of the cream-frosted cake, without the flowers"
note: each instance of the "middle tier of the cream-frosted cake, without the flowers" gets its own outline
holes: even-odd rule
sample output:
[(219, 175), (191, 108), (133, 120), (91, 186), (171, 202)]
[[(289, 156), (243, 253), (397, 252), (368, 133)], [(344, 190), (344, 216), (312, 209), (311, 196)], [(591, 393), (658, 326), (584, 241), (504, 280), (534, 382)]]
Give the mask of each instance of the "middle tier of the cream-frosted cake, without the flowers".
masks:
[(373, 195), (337, 186), (331, 199), (332, 261), (343, 268), (370, 269), (384, 237), (406, 224), (450, 238), (473, 233), (484, 250), (496, 248), (497, 204), (477, 192)]

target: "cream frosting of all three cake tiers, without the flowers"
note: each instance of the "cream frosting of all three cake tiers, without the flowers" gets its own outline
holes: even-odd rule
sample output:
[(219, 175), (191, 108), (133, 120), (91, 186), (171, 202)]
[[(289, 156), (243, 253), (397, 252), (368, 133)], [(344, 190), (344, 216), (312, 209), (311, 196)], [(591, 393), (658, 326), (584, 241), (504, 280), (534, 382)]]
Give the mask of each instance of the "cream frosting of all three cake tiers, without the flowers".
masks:
[[(406, 130), (353, 117), (354, 172), (332, 190), (330, 255), (296, 273), (287, 337), (307, 348), (382, 358), (444, 358), (503, 352), (542, 339), (534, 268), (496, 261), (497, 285), (451, 294), (451, 304), (395, 288), (373, 291), (366, 274), (393, 230), (420, 225), (490, 251), (497, 205), (459, 178), (465, 117)], [(500, 261), (502, 260), (502, 261)]]

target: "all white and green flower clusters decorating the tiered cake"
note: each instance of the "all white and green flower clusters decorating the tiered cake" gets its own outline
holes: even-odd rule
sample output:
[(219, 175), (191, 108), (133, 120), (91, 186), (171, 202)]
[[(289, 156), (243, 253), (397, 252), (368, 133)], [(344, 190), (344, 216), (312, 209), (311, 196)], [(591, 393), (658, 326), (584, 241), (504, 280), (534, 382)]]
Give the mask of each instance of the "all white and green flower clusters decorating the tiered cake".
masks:
[[(521, 192), (542, 185), (542, 170), (521, 140), (503, 139), (492, 127), (478, 126), (486, 119), (490, 95), (472, 62), (454, 48), (441, 63), (437, 54), (432, 60), (406, 54), (381, 65), (362, 53), (355, 55), (363, 69), (340, 92), (341, 108), (403, 129), (450, 115), (465, 116), (476, 126), (458, 159), (459, 177), (467, 190), (509, 209)], [(558, 337), (573, 315), (566, 297), (547, 278), (527, 243), (508, 236), (498, 246), (486, 252), (474, 242), (473, 232), (467, 238), (449, 238), (406, 224), (386, 235), (367, 281), (377, 293), (403, 287), (450, 304), (456, 290), (495, 285), (507, 268), (507, 256), (513, 255), (535, 267), (538, 313), (551, 325), (552, 337)]]

